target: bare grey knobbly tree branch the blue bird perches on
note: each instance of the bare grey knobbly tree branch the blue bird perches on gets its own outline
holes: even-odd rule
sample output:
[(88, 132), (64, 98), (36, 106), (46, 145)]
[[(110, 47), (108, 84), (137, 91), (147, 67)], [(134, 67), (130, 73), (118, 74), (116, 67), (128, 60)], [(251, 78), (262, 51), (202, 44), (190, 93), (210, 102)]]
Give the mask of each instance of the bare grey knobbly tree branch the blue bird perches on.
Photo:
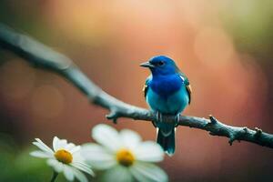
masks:
[[(57, 53), (51, 48), (42, 45), (35, 39), (16, 33), (11, 28), (0, 25), (0, 45), (22, 56), (34, 66), (45, 68), (64, 76), (70, 83), (81, 90), (97, 106), (102, 106), (110, 111), (106, 116), (116, 123), (117, 118), (127, 117), (135, 120), (154, 121), (155, 113), (145, 108), (126, 104), (114, 96), (108, 95), (99, 86), (96, 86), (68, 57)], [(175, 116), (163, 116), (166, 122), (175, 122)], [(209, 119), (197, 116), (180, 116), (179, 126), (189, 126), (203, 129), (212, 136), (226, 136), (230, 145), (235, 140), (244, 140), (260, 146), (273, 148), (273, 135), (263, 132), (261, 129), (254, 130), (248, 127), (227, 126), (219, 122), (215, 117)]]

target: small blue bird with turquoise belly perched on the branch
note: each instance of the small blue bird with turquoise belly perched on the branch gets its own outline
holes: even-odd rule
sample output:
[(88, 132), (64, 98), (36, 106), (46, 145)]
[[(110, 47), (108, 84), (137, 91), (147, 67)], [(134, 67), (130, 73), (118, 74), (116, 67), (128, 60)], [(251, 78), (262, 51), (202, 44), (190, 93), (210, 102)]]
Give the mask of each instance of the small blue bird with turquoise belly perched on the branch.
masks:
[(167, 56), (155, 56), (140, 66), (147, 67), (151, 75), (147, 77), (144, 94), (150, 108), (157, 112), (157, 143), (167, 155), (175, 153), (175, 130), (177, 122), (162, 121), (162, 115), (177, 116), (190, 104), (191, 87), (187, 76), (183, 74), (176, 63)]

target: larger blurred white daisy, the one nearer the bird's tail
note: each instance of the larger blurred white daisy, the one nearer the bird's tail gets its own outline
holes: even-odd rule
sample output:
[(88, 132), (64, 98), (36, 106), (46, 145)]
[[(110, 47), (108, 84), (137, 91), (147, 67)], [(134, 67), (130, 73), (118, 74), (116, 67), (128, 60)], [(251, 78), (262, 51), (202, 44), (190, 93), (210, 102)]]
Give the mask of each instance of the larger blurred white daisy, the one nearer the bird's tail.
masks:
[(82, 156), (97, 170), (106, 170), (104, 181), (158, 181), (166, 182), (167, 174), (152, 164), (162, 161), (164, 151), (156, 142), (142, 142), (134, 131), (124, 129), (120, 133), (104, 124), (92, 130), (97, 144), (82, 147)]

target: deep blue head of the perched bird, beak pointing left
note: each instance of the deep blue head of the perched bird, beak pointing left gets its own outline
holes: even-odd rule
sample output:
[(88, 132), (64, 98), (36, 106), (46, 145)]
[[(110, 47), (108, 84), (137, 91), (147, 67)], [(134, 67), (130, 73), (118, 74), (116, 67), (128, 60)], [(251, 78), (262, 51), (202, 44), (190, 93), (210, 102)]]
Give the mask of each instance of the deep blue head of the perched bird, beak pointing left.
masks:
[(176, 63), (167, 56), (154, 56), (140, 66), (148, 67), (153, 76), (166, 76), (177, 73)]

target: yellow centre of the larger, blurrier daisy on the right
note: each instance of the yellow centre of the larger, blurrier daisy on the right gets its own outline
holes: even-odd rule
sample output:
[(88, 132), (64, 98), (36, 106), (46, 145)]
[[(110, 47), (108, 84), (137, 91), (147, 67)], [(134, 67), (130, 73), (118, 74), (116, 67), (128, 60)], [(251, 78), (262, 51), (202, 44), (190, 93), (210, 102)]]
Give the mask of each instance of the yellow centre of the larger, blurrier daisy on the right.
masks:
[(120, 165), (130, 167), (135, 162), (135, 157), (131, 151), (120, 149), (116, 152), (116, 160)]

